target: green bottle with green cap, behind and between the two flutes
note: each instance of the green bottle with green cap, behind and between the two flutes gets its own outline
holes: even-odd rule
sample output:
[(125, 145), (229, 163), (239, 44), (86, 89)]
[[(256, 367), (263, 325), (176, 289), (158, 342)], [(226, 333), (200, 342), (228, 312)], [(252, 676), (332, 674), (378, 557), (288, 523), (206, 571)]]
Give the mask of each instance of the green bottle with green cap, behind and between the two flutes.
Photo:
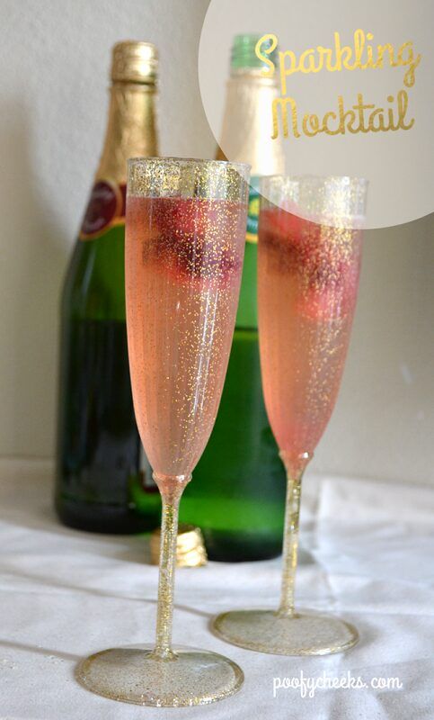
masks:
[[(285, 472), (261, 390), (256, 303), (259, 177), (284, 170), (272, 140), (274, 79), (261, 76), (260, 35), (235, 37), (221, 146), (252, 166), (243, 280), (235, 336), (217, 421), (184, 491), (181, 518), (201, 528), (213, 560), (262, 560), (281, 551)], [(225, 159), (218, 150), (217, 159)]]

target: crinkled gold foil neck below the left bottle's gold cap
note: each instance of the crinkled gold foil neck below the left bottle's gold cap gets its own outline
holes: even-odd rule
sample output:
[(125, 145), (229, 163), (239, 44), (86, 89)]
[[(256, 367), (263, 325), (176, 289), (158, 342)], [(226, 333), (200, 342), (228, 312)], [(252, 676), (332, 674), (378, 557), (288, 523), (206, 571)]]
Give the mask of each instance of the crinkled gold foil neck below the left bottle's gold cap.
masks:
[(155, 85), (115, 82), (111, 85), (109, 121), (96, 180), (127, 181), (128, 157), (158, 154), (155, 130)]

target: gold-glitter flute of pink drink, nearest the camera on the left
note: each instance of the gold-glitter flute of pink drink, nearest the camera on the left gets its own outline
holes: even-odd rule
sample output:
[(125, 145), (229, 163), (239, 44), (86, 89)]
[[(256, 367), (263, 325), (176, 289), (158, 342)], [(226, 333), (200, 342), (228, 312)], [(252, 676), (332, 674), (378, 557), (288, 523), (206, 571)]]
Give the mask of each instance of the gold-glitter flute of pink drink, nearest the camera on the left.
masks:
[(155, 645), (102, 651), (78, 679), (137, 705), (226, 698), (244, 680), (217, 653), (172, 646), (173, 573), (182, 491), (208, 442), (235, 326), (249, 166), (215, 160), (128, 161), (128, 357), (140, 437), (162, 495)]

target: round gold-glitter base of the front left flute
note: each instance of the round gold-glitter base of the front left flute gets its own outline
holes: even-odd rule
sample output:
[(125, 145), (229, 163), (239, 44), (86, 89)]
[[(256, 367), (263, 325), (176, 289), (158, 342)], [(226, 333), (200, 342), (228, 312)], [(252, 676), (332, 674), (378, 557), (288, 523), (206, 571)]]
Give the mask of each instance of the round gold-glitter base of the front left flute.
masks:
[(241, 688), (244, 673), (223, 655), (195, 648), (173, 648), (162, 660), (151, 645), (103, 650), (77, 667), (84, 688), (112, 700), (154, 707), (208, 705)]

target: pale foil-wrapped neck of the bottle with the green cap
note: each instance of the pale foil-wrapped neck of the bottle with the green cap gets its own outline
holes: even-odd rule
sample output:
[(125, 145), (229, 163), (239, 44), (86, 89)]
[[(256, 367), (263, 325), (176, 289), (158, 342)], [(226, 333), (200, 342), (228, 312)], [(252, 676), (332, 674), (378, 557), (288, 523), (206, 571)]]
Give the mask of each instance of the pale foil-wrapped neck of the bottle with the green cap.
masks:
[(226, 85), (221, 148), (234, 162), (249, 163), (252, 175), (284, 173), (281, 140), (273, 134), (271, 103), (279, 94), (273, 79), (256, 71), (235, 71)]

